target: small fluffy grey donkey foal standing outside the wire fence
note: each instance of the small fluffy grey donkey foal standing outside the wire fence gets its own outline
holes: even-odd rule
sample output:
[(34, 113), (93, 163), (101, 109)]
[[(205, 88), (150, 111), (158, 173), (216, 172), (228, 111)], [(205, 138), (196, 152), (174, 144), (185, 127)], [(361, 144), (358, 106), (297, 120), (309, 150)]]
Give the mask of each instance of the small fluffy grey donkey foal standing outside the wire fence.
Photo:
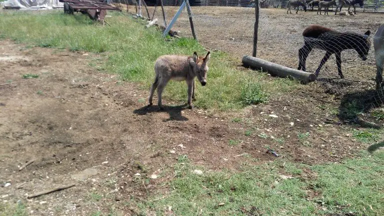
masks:
[(161, 93), (168, 81), (173, 79), (176, 81), (185, 80), (188, 85), (188, 105), (189, 108), (193, 108), (192, 99), (195, 99), (194, 78), (197, 76), (202, 86), (206, 84), (209, 58), (209, 51), (205, 57), (198, 57), (196, 52), (193, 52), (193, 56), (162, 55), (158, 57), (154, 64), (156, 76), (149, 91), (149, 105), (152, 105), (153, 93), (157, 88), (157, 104), (160, 109), (163, 109), (161, 105)]

